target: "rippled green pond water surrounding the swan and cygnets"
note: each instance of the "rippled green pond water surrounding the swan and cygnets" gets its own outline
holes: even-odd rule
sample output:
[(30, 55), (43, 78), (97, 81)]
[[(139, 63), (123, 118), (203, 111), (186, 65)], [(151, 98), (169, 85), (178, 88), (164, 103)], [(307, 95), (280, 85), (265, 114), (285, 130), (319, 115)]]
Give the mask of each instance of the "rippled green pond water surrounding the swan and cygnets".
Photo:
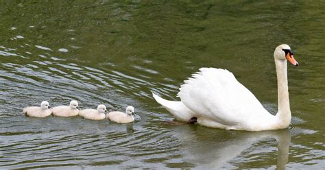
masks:
[[(324, 169), (325, 3), (1, 1), (0, 169)], [(228, 69), (277, 110), (273, 52), (291, 46), (287, 130), (168, 125), (154, 101), (201, 67)], [(25, 117), (47, 100), (134, 106), (130, 124)]]

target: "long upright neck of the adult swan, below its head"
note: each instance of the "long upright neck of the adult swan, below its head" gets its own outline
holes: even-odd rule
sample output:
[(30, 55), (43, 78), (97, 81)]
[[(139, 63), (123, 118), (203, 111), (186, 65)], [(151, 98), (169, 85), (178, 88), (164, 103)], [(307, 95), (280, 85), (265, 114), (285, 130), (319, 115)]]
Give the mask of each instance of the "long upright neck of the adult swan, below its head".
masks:
[(276, 76), (278, 78), (278, 125), (287, 127), (291, 121), (289, 104), (287, 60), (276, 60)]

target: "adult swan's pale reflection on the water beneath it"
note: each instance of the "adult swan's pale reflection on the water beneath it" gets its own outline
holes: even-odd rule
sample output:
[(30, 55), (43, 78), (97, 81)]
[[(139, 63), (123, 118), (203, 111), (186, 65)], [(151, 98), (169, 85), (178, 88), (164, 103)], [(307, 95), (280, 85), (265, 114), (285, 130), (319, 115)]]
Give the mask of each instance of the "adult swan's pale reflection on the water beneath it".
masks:
[[(289, 145), (291, 136), (304, 133), (304, 130), (276, 130), (264, 132), (234, 132), (228, 130), (214, 130), (206, 127), (189, 125), (175, 126), (176, 138), (182, 141), (184, 155), (187, 161), (197, 165), (197, 169), (218, 169), (241, 156), (241, 153), (255, 143), (275, 138), (278, 143), (277, 169), (285, 169), (288, 162)], [(272, 140), (272, 139), (271, 139)], [(271, 152), (273, 149), (263, 148), (263, 152)], [(224, 167), (228, 169), (227, 167)], [(263, 168), (263, 167), (260, 167)]]

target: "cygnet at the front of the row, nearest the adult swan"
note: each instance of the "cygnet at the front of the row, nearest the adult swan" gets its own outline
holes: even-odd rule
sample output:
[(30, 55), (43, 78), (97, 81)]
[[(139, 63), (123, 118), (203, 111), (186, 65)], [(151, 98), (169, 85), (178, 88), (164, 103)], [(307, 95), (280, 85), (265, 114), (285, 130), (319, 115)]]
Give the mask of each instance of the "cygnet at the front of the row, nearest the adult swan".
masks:
[(106, 117), (110, 119), (110, 121), (114, 121), (116, 123), (131, 123), (134, 121), (134, 108), (132, 106), (128, 106), (125, 112), (109, 112)]

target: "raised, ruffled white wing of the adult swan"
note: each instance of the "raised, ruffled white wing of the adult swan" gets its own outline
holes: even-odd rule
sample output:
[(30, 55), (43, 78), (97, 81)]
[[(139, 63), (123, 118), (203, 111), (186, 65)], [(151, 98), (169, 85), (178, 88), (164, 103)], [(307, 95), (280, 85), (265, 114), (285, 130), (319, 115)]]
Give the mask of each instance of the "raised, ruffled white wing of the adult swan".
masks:
[(178, 96), (197, 117), (236, 125), (250, 122), (266, 111), (250, 90), (227, 70), (202, 68), (184, 82)]

